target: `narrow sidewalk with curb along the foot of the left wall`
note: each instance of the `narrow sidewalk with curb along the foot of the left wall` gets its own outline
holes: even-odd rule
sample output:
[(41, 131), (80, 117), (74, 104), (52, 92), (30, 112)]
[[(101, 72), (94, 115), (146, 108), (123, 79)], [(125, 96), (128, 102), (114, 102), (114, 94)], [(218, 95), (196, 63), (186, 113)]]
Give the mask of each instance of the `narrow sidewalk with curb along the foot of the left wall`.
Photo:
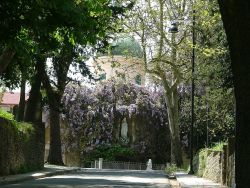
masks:
[(40, 178), (45, 178), (45, 177), (51, 177), (51, 176), (55, 176), (55, 175), (62, 175), (62, 174), (66, 174), (66, 173), (70, 173), (70, 172), (76, 172), (80, 170), (80, 168), (76, 168), (76, 169), (67, 169), (67, 170), (56, 170), (53, 172), (49, 172), (49, 171), (41, 171), (41, 172), (33, 172), (33, 173), (37, 173), (37, 175), (32, 175), (32, 174), (28, 174), (27, 176), (25, 176), (25, 174), (23, 174), (23, 177), (17, 177), (17, 178), (13, 178), (13, 179), (8, 179), (8, 177), (0, 177), (0, 186), (1, 185), (8, 185), (8, 184), (15, 184), (15, 183), (20, 183), (20, 182), (24, 182), (24, 181), (28, 181), (28, 180), (35, 180), (35, 179), (40, 179)]

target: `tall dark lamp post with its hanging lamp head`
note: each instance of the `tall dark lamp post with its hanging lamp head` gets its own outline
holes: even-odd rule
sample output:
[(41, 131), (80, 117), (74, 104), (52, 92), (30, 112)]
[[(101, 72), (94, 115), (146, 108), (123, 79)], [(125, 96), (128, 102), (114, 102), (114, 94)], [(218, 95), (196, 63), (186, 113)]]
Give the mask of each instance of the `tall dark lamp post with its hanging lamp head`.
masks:
[[(168, 30), (169, 33), (177, 33), (178, 27), (177, 23), (172, 23), (171, 27)], [(191, 79), (191, 125), (190, 125), (190, 170), (188, 174), (194, 174), (193, 169), (193, 132), (194, 132), (194, 63), (195, 63), (195, 9), (193, 8), (193, 17), (192, 17), (192, 79)]]

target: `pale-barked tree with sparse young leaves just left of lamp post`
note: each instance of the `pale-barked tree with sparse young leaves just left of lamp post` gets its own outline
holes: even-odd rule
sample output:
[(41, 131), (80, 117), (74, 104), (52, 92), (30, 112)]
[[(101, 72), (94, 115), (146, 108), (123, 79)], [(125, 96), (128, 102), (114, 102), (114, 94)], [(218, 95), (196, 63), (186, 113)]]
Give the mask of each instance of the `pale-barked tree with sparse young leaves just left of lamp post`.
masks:
[[(143, 59), (148, 72), (164, 88), (168, 126), (172, 141), (172, 162), (182, 165), (182, 149), (179, 131), (179, 94), (178, 85), (187, 71), (185, 53), (190, 50), (188, 24), (190, 3), (186, 1), (150, 0), (138, 1), (137, 6), (125, 23), (129, 32), (140, 39)], [(180, 21), (181, 20), (181, 21)], [(178, 34), (169, 33), (171, 22), (180, 26)]]

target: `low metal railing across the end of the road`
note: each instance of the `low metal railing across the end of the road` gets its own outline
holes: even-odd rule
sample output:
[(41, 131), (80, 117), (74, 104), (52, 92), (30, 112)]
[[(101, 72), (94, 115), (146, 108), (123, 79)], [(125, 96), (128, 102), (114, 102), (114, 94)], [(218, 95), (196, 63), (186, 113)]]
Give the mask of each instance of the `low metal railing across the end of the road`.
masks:
[[(164, 170), (165, 164), (152, 164), (152, 170)], [(91, 168), (98, 168), (98, 161), (91, 162)], [(102, 169), (123, 169), (123, 170), (146, 170), (146, 163), (103, 161)]]

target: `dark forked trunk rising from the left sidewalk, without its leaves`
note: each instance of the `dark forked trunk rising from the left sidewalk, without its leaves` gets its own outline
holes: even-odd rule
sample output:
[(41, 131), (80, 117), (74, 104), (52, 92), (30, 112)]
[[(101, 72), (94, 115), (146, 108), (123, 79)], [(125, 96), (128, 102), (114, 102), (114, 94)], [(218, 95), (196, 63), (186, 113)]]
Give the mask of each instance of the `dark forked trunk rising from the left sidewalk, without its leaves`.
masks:
[(43, 64), (43, 86), (48, 96), (50, 109), (50, 150), (48, 156), (48, 162), (50, 164), (63, 165), (60, 133), (61, 99), (67, 85), (67, 74), (73, 58), (74, 47), (65, 45), (62, 48), (60, 58), (53, 61), (57, 78), (56, 87), (52, 87), (45, 65)]

